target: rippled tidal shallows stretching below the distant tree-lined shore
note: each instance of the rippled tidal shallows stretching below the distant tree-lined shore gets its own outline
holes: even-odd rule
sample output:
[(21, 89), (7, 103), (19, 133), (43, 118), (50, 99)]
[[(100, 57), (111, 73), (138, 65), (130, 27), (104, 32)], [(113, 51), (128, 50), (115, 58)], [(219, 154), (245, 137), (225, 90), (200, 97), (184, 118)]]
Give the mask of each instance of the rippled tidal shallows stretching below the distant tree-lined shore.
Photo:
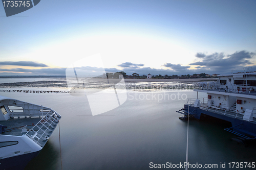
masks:
[[(0, 88), (65, 88), (76, 86), (79, 89), (106, 89), (113, 86), (121, 79), (68, 79), (69, 86), (66, 78), (1, 78)], [(183, 79), (181, 81), (158, 81), (158, 82), (132, 82), (131, 79), (124, 79), (125, 87), (127, 90), (134, 91), (159, 91), (159, 90), (184, 90), (194, 89), (197, 80), (188, 81)], [(200, 80), (198, 80), (199, 82)]]

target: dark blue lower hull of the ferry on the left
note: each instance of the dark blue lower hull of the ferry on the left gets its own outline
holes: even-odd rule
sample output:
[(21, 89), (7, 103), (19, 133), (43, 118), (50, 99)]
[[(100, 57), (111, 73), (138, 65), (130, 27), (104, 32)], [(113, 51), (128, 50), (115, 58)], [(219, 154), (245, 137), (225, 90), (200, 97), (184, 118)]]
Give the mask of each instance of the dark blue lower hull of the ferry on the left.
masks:
[(19, 170), (24, 169), (31, 159), (36, 157), (40, 151), (0, 159), (0, 170)]

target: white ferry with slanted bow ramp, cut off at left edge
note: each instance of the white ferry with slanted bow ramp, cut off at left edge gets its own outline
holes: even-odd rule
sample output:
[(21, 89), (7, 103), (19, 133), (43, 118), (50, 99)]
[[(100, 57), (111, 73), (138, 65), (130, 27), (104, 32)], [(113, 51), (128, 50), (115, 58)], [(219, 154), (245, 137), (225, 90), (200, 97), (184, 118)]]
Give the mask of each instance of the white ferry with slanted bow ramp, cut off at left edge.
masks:
[(0, 169), (24, 169), (61, 116), (51, 108), (0, 96)]

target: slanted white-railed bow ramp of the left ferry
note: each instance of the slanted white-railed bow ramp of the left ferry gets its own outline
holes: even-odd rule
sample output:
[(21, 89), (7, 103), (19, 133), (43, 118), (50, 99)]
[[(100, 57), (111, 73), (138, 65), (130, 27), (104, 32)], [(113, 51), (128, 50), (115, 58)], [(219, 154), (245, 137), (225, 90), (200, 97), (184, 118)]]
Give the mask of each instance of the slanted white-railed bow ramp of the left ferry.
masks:
[(51, 136), (50, 128), (55, 129), (60, 118), (61, 116), (57, 112), (50, 110), (26, 135), (42, 147), (44, 141)]

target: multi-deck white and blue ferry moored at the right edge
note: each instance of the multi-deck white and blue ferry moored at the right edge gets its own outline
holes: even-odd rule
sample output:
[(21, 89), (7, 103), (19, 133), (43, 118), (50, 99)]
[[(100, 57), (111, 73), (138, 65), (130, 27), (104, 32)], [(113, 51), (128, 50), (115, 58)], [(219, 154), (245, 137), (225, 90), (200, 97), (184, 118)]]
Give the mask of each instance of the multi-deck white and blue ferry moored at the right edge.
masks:
[[(207, 98), (188, 99), (178, 113), (181, 119), (218, 118), (230, 123), (225, 130), (236, 134), (234, 140), (256, 139), (256, 72), (242, 71), (219, 75), (217, 82), (200, 82), (194, 91)], [(198, 96), (198, 95), (197, 95)]]

